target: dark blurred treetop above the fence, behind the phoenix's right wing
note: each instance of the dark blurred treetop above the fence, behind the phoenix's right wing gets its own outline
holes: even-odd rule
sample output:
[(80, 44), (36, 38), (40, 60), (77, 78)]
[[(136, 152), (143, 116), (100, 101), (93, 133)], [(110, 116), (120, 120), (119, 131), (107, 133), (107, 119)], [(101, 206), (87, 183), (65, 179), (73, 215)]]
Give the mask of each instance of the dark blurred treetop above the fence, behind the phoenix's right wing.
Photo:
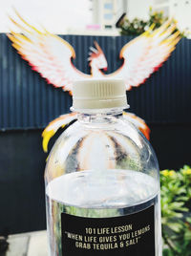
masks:
[[(145, 32), (149, 27), (155, 24), (154, 30), (158, 29), (166, 20), (163, 11), (153, 11), (152, 8), (149, 10), (149, 19), (147, 21), (134, 18), (130, 21), (127, 17), (123, 18), (119, 23), (118, 27), (120, 29), (120, 34), (122, 35), (139, 35)], [(172, 20), (176, 24), (176, 20)], [(178, 31), (175, 30), (175, 32)], [(180, 32), (181, 36), (184, 36), (184, 32)]]

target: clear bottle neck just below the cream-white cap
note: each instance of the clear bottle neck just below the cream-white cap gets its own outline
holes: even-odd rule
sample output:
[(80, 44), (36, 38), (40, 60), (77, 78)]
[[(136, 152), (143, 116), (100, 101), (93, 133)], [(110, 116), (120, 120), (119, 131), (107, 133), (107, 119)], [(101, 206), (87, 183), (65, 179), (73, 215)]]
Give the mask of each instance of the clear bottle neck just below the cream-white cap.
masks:
[(88, 110), (86, 113), (78, 113), (77, 119), (84, 124), (114, 123), (122, 116), (123, 109)]

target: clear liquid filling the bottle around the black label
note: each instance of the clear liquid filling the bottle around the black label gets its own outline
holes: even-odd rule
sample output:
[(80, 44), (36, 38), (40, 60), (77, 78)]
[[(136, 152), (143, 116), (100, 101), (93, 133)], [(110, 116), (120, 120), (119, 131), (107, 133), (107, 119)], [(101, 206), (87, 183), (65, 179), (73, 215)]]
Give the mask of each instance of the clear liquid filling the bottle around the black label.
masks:
[[(89, 218), (129, 215), (155, 205), (156, 256), (160, 251), (159, 184), (129, 170), (82, 171), (63, 175), (46, 188), (50, 256), (62, 255), (61, 213)], [(67, 255), (66, 255), (67, 256)]]

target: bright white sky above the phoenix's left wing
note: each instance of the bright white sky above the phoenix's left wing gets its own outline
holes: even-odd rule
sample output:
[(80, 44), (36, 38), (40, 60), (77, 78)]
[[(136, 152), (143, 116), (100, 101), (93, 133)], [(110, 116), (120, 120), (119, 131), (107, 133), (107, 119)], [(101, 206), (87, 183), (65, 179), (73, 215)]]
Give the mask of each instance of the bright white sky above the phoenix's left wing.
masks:
[(32, 25), (54, 33), (84, 29), (92, 21), (89, 0), (0, 0), (0, 32), (11, 29), (8, 14), (15, 17), (12, 7)]

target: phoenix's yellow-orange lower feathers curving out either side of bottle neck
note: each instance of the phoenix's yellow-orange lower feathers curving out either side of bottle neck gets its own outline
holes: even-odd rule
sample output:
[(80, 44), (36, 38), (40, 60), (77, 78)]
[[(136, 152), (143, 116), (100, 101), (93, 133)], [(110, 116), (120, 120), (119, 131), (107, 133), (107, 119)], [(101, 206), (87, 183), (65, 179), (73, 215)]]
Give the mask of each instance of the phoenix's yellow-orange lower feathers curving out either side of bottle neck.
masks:
[[(140, 117), (137, 117), (136, 115), (132, 113), (123, 112), (123, 117), (132, 122), (137, 128), (140, 130), (140, 132), (143, 133), (143, 135), (149, 139), (150, 135), (150, 129), (146, 125), (145, 121), (141, 119)], [(53, 135), (57, 132), (59, 128), (65, 127), (65, 125), (70, 124), (72, 121), (76, 120), (77, 114), (71, 113), (62, 115), (60, 117), (55, 118), (50, 124), (45, 128), (45, 130), (42, 133), (42, 146), (44, 152), (48, 151), (48, 144), (50, 139), (53, 137)]]

